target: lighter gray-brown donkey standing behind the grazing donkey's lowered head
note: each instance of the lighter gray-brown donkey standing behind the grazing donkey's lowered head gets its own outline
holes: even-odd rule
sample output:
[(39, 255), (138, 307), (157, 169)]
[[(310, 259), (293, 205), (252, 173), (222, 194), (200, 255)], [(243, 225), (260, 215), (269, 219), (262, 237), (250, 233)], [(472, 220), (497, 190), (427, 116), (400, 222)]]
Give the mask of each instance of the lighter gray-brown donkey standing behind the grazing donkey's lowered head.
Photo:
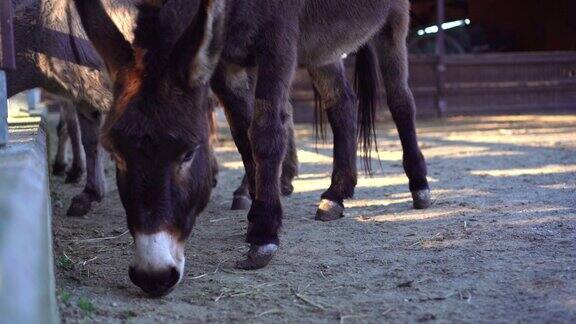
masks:
[[(141, 0), (104, 1), (107, 12), (128, 38), (133, 37), (135, 4)], [(102, 114), (110, 109), (112, 93), (103, 65), (86, 34), (73, 4), (68, 0), (13, 0), (17, 71), (9, 71), (8, 95), (42, 87), (61, 98), (58, 124), (58, 149), (53, 165), (55, 175), (66, 168), (65, 145), (73, 148), (72, 167), (66, 183), (78, 182), (83, 173), (80, 138), (86, 155), (86, 185), (72, 199), (67, 214), (86, 215), (93, 202), (105, 194), (102, 149), (98, 145)], [(76, 114), (78, 113), (78, 114)], [(78, 115), (78, 116), (76, 116)], [(78, 124), (80, 127), (78, 127)], [(290, 129), (293, 127), (287, 124)], [(78, 129), (81, 129), (81, 136)], [(292, 192), (297, 173), (295, 149), (284, 163), (283, 192)], [(216, 169), (215, 169), (216, 170)], [(249, 208), (247, 183), (242, 182), (234, 195), (233, 209)]]

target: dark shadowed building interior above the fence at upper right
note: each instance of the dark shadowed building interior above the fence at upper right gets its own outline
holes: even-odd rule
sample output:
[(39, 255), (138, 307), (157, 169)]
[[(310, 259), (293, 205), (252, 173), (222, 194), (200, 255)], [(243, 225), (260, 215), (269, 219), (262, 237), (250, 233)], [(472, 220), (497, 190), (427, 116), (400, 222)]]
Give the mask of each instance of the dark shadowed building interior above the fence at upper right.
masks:
[[(426, 38), (417, 32), (436, 25), (436, 0), (411, 2), (411, 40)], [(446, 22), (469, 21), (447, 34), (466, 53), (576, 51), (574, 13), (574, 0), (446, 0)]]

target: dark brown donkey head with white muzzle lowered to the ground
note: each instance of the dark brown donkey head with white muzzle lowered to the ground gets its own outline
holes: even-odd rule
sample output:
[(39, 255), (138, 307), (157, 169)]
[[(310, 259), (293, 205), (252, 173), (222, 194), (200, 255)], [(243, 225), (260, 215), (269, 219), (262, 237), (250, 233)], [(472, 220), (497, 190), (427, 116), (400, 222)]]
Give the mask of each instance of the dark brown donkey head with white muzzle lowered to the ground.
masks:
[(134, 42), (100, 1), (75, 0), (113, 83), (102, 145), (116, 179), (136, 255), (130, 279), (164, 295), (184, 273), (184, 245), (211, 188), (207, 92), (218, 61), (223, 1), (149, 1)]

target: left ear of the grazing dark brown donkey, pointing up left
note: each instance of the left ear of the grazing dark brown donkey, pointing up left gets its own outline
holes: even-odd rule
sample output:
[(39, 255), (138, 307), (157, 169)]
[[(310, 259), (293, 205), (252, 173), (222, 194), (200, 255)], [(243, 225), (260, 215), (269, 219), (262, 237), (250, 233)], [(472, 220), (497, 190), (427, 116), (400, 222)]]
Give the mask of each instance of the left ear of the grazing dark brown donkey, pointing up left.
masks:
[(132, 46), (110, 19), (101, 0), (74, 0), (74, 3), (88, 38), (115, 79), (118, 70), (134, 60)]

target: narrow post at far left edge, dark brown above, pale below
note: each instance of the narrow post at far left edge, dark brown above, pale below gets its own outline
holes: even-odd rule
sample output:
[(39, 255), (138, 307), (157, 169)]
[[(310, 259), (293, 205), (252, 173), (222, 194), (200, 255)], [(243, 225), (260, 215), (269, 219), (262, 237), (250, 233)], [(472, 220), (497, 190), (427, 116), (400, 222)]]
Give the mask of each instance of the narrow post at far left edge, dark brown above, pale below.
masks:
[(0, 0), (0, 147), (8, 143), (8, 91), (4, 70), (15, 68), (12, 2)]

